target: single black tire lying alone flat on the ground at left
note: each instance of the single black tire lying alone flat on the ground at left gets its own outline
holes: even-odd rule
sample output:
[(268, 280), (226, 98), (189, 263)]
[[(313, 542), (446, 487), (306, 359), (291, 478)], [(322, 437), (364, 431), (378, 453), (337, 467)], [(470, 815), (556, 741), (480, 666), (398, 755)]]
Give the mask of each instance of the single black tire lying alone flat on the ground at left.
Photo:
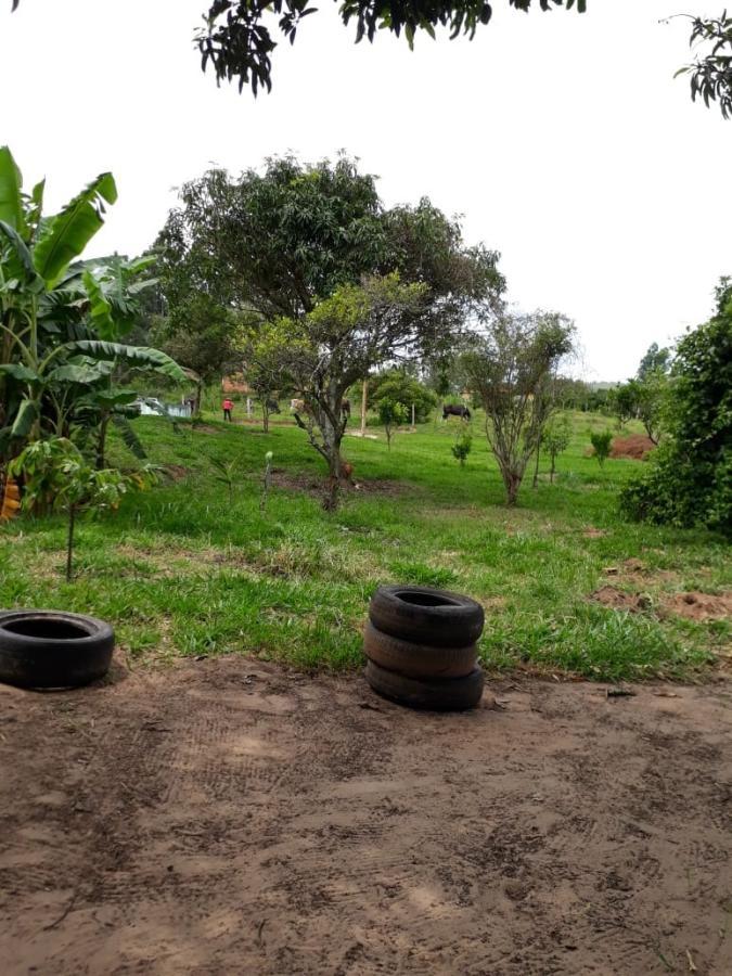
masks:
[(110, 669), (114, 631), (62, 611), (0, 611), (0, 681), (20, 688), (78, 688)]

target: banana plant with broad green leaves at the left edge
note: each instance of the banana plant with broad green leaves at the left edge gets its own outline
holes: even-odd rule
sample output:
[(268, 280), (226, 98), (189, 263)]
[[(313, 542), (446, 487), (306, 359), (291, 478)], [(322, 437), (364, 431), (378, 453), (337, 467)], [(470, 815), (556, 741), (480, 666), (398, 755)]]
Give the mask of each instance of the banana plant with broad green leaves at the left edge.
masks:
[[(53, 217), (42, 214), (43, 189), (25, 194), (12, 153), (0, 147), (0, 454), (38, 440), (42, 421), (60, 436), (85, 397), (106, 391), (114, 400), (118, 362), (185, 380), (164, 352), (119, 342), (134, 323), (138, 296), (154, 283), (139, 278), (152, 259), (80, 260), (117, 198), (112, 174)], [(107, 404), (110, 415), (115, 406)]]

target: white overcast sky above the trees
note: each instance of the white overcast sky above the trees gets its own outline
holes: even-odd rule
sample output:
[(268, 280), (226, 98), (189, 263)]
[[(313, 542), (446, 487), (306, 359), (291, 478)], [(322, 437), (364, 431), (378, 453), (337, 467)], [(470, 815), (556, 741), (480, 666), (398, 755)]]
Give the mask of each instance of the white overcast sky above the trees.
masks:
[(274, 88), (217, 89), (191, 38), (208, 0), (0, 0), (0, 143), (51, 210), (111, 169), (97, 253), (149, 245), (175, 188), (339, 149), (391, 205), (428, 195), (501, 252), (510, 298), (575, 319), (585, 375), (619, 380), (704, 321), (732, 273), (732, 121), (692, 105), (689, 11), (723, 0), (588, 0), (529, 15), (495, 0), (475, 40), (352, 43), (332, 0), (274, 52)]

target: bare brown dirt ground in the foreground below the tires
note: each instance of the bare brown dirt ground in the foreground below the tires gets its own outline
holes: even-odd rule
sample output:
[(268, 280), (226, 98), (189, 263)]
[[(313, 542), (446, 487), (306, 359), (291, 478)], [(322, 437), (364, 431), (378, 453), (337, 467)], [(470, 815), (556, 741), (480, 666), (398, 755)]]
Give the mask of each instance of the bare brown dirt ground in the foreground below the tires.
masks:
[(732, 973), (732, 685), (0, 686), (3, 976)]

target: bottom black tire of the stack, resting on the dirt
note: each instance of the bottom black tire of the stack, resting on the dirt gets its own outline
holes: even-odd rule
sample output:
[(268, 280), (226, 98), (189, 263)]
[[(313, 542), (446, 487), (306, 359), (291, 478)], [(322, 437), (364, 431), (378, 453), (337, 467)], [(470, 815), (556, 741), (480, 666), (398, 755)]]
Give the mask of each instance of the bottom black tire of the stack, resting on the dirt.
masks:
[(396, 675), (372, 660), (367, 664), (365, 679), (382, 697), (408, 708), (424, 708), (429, 711), (464, 711), (475, 708), (483, 696), (485, 683), (480, 668), (475, 668), (465, 678), (427, 680)]

